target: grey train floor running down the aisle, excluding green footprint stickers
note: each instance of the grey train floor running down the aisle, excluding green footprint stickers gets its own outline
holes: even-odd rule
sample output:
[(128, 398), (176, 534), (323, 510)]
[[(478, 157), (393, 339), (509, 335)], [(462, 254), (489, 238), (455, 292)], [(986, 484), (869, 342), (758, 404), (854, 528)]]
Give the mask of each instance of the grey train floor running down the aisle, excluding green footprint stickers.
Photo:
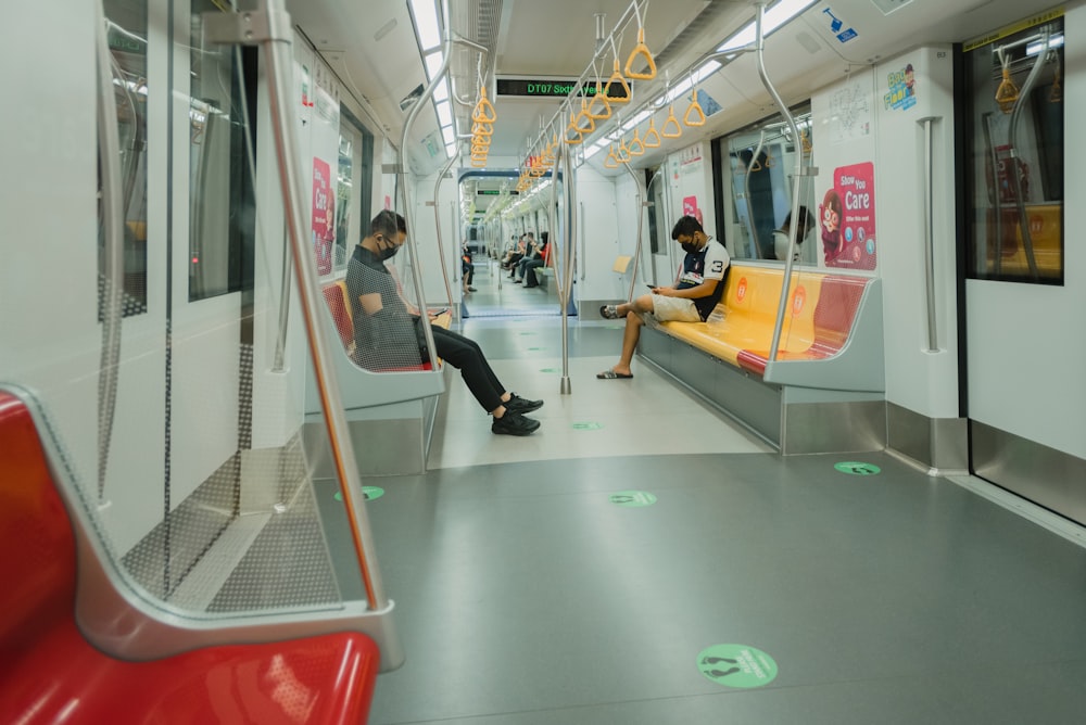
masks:
[[(510, 310), (539, 292), (476, 287)], [(546, 399), (535, 435), (492, 435), (454, 380), (432, 470), (366, 482), (407, 653), (371, 723), (1086, 722), (1083, 548), (889, 455), (781, 458), (636, 361), (597, 381), (614, 323), (572, 322), (560, 396), (556, 325), (465, 323)], [(721, 644), (775, 678), (703, 675)]]

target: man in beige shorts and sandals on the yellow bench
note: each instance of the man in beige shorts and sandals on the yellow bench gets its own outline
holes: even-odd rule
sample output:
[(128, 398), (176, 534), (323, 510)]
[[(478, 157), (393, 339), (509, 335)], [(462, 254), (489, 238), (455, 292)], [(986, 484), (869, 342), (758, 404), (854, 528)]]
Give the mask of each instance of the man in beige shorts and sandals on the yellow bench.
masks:
[(609, 370), (596, 374), (601, 380), (633, 378), (630, 362), (641, 339), (641, 326), (652, 315), (657, 321), (702, 322), (720, 302), (724, 292), (724, 272), (731, 258), (720, 242), (705, 233), (702, 224), (692, 216), (684, 216), (671, 230), (671, 239), (679, 242), (683, 252), (682, 270), (673, 287), (654, 287), (652, 294), (621, 305), (604, 305), (599, 315), (607, 319), (626, 318), (622, 335), (622, 356)]

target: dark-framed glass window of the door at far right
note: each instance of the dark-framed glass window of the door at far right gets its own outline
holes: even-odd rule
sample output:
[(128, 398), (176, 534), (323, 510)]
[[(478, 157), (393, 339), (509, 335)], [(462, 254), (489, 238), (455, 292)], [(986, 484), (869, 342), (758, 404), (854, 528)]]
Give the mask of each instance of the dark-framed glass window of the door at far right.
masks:
[(1062, 284), (1063, 18), (967, 49), (967, 274)]

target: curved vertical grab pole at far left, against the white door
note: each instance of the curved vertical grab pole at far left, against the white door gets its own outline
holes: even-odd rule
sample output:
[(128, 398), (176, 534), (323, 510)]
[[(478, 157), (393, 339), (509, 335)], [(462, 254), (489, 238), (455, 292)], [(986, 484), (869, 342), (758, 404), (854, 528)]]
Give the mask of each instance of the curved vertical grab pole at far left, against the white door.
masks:
[(102, 234), (105, 244), (102, 294), (102, 355), (98, 380), (98, 501), (105, 501), (113, 417), (117, 405), (121, 362), (121, 293), (124, 290), (124, 215), (121, 211), (121, 135), (113, 90), (113, 59), (105, 36), (102, 3), (94, 3), (98, 33), (98, 158), (102, 177)]

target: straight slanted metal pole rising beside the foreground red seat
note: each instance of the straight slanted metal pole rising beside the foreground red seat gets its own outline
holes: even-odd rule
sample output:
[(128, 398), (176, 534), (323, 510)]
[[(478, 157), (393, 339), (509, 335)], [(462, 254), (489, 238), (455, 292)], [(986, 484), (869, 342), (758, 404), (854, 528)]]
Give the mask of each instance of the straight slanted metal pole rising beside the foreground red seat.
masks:
[(329, 364), (332, 348), (325, 334), (325, 328), (317, 317), (323, 311), (324, 300), (314, 283), (314, 280), (317, 279), (317, 271), (312, 251), (306, 244), (307, 236), (304, 233), (306, 217), (302, 200), (305, 199), (305, 192), (298, 167), (299, 145), (295, 124), (291, 115), (292, 94), (289, 90), (293, 68), (293, 58), (290, 52), (292, 36), (290, 15), (282, 10), (282, 0), (264, 0), (264, 3), (270, 37), (262, 46), (267, 71), (272, 129), (278, 160), (279, 185), (282, 189), (282, 201), (286, 208), (287, 231), (291, 241), (295, 278), (301, 293), (302, 313), (313, 358), (313, 371), (317, 381), (317, 391), (320, 394), (320, 407), (328, 425), (336, 472), (343, 483), (343, 503), (351, 511), (348, 519), (351, 526), (351, 542), (362, 568), (366, 600), (370, 609), (382, 610), (388, 608), (389, 601), (384, 596), (377, 560), (374, 557), (374, 540), (363, 503), (362, 481), (358, 476), (358, 465), (354, 457), (354, 449), (351, 447), (339, 381)]

